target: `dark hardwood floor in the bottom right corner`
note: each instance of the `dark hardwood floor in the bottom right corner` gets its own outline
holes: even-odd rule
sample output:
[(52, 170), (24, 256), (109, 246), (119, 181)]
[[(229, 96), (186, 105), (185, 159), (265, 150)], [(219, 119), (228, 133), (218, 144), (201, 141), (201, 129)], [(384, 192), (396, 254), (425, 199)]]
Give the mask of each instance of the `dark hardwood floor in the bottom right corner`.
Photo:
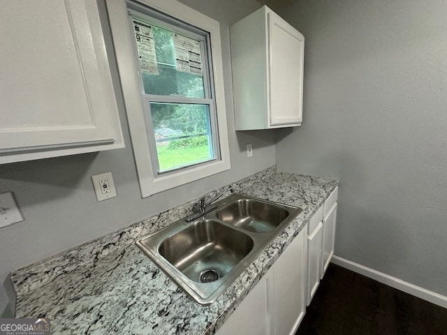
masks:
[(295, 333), (309, 334), (447, 335), (447, 309), (331, 264)]

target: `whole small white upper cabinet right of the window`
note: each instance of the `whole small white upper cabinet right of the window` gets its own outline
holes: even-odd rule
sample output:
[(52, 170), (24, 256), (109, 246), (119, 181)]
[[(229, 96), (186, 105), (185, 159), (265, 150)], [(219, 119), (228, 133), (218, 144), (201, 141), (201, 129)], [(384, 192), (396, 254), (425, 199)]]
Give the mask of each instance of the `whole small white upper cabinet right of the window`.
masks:
[(304, 36), (267, 6), (230, 34), (236, 130), (300, 126)]

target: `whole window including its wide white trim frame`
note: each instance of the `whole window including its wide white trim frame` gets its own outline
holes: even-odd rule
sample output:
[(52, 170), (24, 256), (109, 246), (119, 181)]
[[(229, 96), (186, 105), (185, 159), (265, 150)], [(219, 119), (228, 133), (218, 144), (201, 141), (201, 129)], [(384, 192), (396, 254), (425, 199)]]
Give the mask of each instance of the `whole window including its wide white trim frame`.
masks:
[(118, 2), (108, 14), (142, 196), (228, 170), (219, 23), (174, 0)]

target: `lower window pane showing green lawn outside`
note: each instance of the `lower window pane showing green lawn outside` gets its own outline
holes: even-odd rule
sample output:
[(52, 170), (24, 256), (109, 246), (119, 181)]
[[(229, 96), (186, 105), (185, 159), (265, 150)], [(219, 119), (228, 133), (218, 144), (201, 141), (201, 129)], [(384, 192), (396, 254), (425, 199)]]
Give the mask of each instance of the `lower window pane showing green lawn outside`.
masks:
[(214, 159), (208, 105), (150, 103), (159, 171)]

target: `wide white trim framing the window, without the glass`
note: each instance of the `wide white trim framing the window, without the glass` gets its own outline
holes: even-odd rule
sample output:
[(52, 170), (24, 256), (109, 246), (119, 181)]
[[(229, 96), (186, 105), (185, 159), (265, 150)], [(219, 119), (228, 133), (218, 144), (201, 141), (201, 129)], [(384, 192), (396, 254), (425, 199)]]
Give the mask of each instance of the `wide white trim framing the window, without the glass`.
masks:
[[(230, 169), (230, 149), (228, 146), (228, 130), (226, 123), (225, 94), (223, 91), (223, 66), (221, 35), (219, 22), (199, 13), (176, 0), (138, 0), (151, 8), (189, 23), (210, 33), (212, 49), (212, 71), (214, 76), (214, 102), (216, 105), (217, 128), (221, 159), (210, 163), (193, 166), (178, 172), (159, 175), (152, 169), (151, 152), (147, 140), (145, 118), (141, 98), (141, 87), (138, 79), (138, 64), (135, 64), (133, 45), (124, 0), (106, 0), (115, 54), (122, 84), (124, 105), (126, 107), (129, 129), (135, 157), (135, 165), (140, 181), (142, 198), (166, 191), (169, 188), (187, 184), (212, 174)], [(155, 153), (152, 153), (156, 155)]]

